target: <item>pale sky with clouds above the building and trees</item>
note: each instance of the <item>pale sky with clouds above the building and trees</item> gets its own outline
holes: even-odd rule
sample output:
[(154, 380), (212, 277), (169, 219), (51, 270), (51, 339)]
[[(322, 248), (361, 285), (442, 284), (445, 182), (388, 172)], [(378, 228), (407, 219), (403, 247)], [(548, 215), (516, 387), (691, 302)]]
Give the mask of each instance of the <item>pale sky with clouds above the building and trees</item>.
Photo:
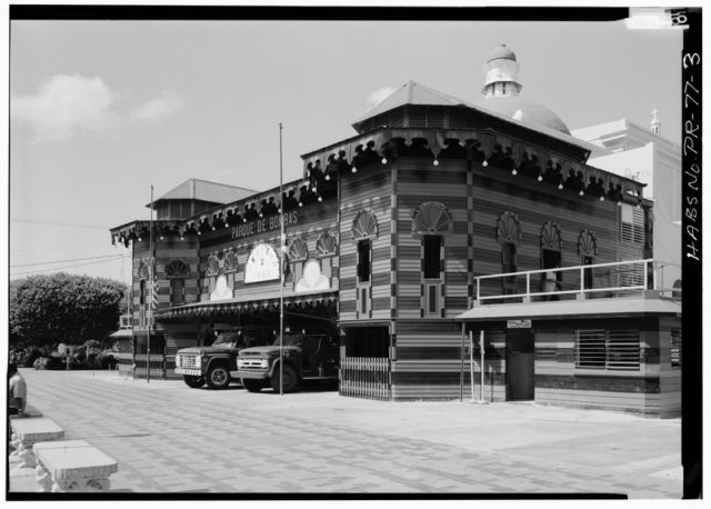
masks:
[(504, 43), (521, 97), (571, 129), (657, 108), (680, 142), (678, 30), (618, 22), (11, 21), (10, 278), (63, 270), (128, 282), (109, 229), (189, 178), (248, 189), (302, 174), (301, 154), (408, 80), (481, 99)]

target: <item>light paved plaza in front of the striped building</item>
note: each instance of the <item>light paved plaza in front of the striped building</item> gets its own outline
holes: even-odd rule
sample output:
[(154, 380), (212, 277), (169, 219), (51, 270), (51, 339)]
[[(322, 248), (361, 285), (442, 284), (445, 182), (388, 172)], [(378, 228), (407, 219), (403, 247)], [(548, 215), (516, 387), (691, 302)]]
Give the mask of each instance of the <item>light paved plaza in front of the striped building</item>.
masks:
[[(28, 401), (119, 463), (120, 493), (402, 493), (679, 499), (681, 419), (534, 402), (279, 396), (116, 371), (20, 370)], [(329, 390), (330, 389), (330, 390)], [(36, 491), (10, 466), (9, 497)]]

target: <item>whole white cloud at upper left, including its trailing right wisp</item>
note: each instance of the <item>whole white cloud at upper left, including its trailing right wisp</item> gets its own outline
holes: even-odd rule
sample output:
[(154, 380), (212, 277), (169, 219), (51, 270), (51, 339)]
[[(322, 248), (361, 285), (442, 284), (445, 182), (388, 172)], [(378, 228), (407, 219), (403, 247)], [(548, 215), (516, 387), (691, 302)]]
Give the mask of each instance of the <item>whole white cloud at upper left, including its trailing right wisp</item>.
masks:
[(126, 114), (119, 111), (117, 98), (99, 77), (58, 74), (42, 83), (36, 93), (11, 98), (10, 114), (29, 123), (38, 142), (86, 133), (103, 134), (128, 121), (154, 124), (183, 104), (178, 92), (163, 90), (158, 98)]

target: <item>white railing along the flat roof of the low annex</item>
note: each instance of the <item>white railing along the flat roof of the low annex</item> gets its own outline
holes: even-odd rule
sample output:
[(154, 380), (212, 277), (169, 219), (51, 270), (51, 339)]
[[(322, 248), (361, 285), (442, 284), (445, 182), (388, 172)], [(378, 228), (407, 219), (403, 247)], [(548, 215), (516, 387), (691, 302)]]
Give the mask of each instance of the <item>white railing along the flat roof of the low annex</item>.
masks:
[[(667, 263), (668, 265), (668, 263)], [(527, 270), (474, 278), (479, 303), (622, 297), (657, 290), (680, 298), (681, 288), (664, 281), (665, 265), (652, 259)], [(555, 276), (554, 282), (550, 278)]]

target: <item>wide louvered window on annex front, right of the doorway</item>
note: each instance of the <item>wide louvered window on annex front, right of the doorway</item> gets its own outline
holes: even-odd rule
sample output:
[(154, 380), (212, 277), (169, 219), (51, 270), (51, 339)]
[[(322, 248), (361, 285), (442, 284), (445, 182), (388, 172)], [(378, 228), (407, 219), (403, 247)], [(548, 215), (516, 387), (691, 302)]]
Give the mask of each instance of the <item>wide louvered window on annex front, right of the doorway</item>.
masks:
[(637, 330), (577, 330), (575, 368), (639, 371), (639, 332)]

